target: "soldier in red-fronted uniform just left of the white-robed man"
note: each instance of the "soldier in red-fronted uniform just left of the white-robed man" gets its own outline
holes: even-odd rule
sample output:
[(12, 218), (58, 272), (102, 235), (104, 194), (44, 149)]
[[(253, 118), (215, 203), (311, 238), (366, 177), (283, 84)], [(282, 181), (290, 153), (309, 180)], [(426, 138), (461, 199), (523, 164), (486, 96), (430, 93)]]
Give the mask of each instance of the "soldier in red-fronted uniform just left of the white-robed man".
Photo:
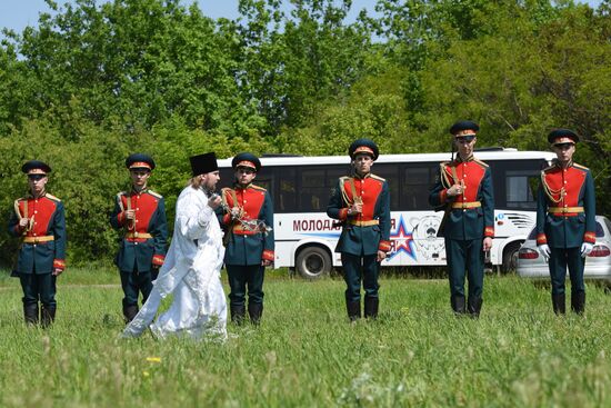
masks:
[(117, 195), (110, 225), (124, 231), (116, 263), (124, 293), (123, 317), (129, 322), (138, 314), (139, 292), (143, 303), (163, 265), (168, 222), (163, 197), (148, 188), (153, 159), (142, 153), (130, 155), (126, 167), (132, 181), (131, 191)]

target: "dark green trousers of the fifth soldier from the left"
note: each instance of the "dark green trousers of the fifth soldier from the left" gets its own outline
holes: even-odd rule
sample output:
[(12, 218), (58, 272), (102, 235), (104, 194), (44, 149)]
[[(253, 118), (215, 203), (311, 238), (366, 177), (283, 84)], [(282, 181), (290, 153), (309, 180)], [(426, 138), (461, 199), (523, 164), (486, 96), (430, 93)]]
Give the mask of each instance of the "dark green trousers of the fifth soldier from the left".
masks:
[(458, 240), (445, 238), (445, 257), (452, 297), (464, 297), (464, 276), (469, 280), (469, 298), (480, 299), (483, 292), (483, 238)]

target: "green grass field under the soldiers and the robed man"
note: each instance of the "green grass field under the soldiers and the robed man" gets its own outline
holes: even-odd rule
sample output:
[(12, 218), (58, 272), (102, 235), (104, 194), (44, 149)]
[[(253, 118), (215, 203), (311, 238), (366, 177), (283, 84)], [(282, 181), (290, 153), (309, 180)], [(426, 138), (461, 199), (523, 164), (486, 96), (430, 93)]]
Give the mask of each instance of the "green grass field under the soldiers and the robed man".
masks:
[(69, 270), (44, 331), (0, 273), (1, 407), (611, 406), (611, 296), (593, 285), (585, 317), (557, 318), (549, 289), (487, 277), (472, 320), (445, 280), (382, 278), (380, 318), (350, 325), (340, 279), (272, 273), (262, 325), (216, 344), (119, 339), (118, 283)]

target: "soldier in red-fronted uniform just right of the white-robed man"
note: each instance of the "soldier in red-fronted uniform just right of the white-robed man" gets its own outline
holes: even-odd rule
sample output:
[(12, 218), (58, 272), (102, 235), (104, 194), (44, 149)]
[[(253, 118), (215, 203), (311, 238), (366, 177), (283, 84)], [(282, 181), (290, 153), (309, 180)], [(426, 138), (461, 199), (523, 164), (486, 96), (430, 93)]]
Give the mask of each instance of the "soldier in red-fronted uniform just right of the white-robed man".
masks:
[(243, 152), (233, 158), (233, 188), (222, 189), (220, 221), (226, 230), (224, 265), (229, 277), (231, 320), (241, 324), (248, 314), (259, 324), (263, 314), (263, 278), (266, 267), (273, 263), (273, 202), (269, 191), (252, 183), (261, 161)]

